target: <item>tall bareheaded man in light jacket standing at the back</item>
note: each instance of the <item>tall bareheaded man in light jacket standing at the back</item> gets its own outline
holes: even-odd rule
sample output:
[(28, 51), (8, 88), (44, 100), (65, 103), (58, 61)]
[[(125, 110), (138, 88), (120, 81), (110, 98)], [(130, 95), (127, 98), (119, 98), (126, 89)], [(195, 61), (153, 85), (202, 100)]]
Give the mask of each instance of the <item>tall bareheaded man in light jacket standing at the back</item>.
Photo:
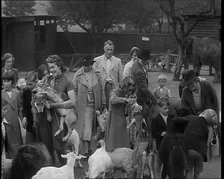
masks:
[(113, 56), (114, 43), (104, 42), (104, 54), (94, 59), (93, 67), (100, 71), (106, 96), (106, 107), (109, 108), (109, 98), (112, 89), (118, 87), (123, 80), (123, 66), (121, 59)]

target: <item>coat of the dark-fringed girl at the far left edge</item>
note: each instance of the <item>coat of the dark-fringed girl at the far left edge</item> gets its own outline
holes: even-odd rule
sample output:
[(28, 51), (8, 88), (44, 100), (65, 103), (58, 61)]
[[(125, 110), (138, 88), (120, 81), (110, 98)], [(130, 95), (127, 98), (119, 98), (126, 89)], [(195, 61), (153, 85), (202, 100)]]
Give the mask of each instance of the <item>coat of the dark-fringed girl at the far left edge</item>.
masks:
[(6, 138), (8, 139), (8, 144), (6, 145), (9, 147), (7, 157), (12, 158), (15, 156), (17, 149), (23, 144), (19, 123), (19, 116), (22, 116), (21, 97), (18, 90), (12, 89), (12, 97), (10, 98), (3, 89), (2, 99), (3, 98), (7, 101), (7, 113), (5, 117), (8, 122), (8, 124), (5, 125), (7, 130)]

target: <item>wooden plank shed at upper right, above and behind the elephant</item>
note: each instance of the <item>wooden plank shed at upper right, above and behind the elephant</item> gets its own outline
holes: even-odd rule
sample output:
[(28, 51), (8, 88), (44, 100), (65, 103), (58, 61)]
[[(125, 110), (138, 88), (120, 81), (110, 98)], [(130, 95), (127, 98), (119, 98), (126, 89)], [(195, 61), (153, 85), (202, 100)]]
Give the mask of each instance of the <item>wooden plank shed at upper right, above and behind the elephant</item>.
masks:
[[(197, 15), (184, 15), (188, 27), (191, 27), (197, 19)], [(216, 40), (221, 40), (221, 16), (208, 15), (203, 16), (203, 21), (200, 21), (191, 31), (190, 35), (196, 37), (210, 37)]]

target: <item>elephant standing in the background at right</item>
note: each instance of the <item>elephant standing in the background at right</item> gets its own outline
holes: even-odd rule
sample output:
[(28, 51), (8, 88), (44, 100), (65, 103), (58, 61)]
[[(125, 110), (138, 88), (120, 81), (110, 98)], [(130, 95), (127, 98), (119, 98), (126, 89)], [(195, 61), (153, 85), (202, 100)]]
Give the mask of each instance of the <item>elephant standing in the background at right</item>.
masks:
[(208, 37), (189, 37), (186, 42), (186, 56), (200, 75), (202, 65), (214, 67), (214, 83), (221, 83), (221, 43)]

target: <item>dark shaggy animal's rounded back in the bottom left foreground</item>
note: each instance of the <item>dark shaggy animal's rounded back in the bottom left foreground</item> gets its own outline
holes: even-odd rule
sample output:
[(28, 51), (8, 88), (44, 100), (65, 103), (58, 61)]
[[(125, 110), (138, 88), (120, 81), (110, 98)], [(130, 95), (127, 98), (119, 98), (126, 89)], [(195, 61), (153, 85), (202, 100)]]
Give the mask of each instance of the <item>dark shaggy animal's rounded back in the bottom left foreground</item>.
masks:
[(31, 179), (39, 169), (50, 165), (52, 159), (44, 144), (23, 145), (12, 161), (10, 179)]

